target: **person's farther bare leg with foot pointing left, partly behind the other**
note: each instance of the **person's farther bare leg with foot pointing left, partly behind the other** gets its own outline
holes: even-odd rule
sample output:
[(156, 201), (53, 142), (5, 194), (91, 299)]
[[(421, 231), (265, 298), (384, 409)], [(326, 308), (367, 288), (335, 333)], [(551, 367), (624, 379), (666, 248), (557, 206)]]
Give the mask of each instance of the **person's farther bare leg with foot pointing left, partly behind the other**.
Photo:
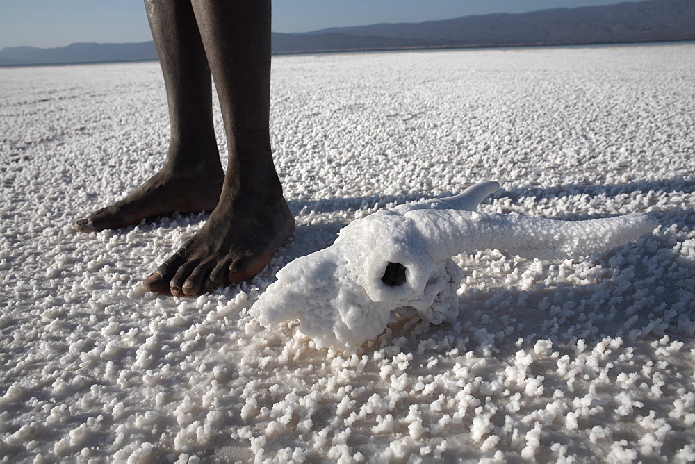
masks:
[(138, 224), (174, 211), (215, 208), (222, 190), (212, 116), (212, 85), (190, 3), (145, 0), (164, 75), (171, 122), (170, 146), (160, 172), (125, 199), (76, 223), (83, 232)]

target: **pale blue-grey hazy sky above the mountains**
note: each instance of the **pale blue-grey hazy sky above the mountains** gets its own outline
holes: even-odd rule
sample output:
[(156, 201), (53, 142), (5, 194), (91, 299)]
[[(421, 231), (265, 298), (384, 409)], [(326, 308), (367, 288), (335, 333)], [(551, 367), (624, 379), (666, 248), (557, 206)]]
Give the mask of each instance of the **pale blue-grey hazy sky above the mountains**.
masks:
[[(306, 32), (379, 22), (607, 5), (624, 0), (274, 0), (272, 30)], [(142, 0), (0, 0), (0, 49), (152, 40)]]

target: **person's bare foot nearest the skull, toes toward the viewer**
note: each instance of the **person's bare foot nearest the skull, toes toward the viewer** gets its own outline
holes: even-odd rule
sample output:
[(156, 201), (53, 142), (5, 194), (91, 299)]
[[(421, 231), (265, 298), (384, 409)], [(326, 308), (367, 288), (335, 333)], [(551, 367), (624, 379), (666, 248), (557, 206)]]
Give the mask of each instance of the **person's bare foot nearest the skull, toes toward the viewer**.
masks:
[(223, 200), (202, 229), (145, 279), (145, 288), (181, 297), (250, 279), (294, 230), (281, 194)]

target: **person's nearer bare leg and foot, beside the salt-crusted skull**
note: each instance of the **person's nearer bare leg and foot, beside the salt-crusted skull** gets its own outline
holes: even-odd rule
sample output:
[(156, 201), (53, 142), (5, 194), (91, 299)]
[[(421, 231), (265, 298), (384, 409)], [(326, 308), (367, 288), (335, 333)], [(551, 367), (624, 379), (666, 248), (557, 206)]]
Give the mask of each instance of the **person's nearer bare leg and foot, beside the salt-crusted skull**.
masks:
[(192, 3), (229, 161), (206, 224), (145, 281), (149, 290), (179, 296), (256, 275), (295, 229), (270, 151), (270, 0)]

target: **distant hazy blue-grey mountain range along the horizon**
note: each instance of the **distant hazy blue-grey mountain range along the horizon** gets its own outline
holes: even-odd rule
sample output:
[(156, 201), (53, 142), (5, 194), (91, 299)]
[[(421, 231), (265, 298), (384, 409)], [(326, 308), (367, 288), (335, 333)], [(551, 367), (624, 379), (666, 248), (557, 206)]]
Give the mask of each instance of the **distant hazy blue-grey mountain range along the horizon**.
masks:
[[(464, 16), (421, 23), (373, 24), (307, 33), (272, 33), (273, 53), (449, 47), (616, 44), (695, 40), (695, 0), (650, 0), (520, 14)], [(8, 47), (0, 65), (156, 60), (152, 42), (81, 43), (54, 49)]]

